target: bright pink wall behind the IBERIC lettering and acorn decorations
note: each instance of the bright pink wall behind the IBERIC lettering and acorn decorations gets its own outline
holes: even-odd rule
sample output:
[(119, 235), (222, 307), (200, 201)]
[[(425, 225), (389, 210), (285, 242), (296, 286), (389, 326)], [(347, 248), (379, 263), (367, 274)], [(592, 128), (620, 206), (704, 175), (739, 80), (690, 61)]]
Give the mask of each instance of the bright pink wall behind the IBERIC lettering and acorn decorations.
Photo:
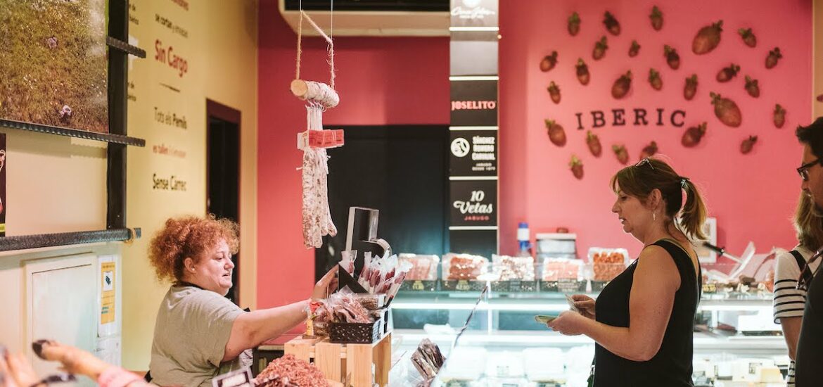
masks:
[[(657, 32), (649, 24), (654, 4), (663, 3), (665, 24)], [(608, 181), (621, 165), (611, 152), (612, 143), (625, 143), (630, 163), (638, 161), (644, 144), (658, 142), (660, 152), (675, 169), (698, 184), (709, 204), (709, 215), (718, 218), (718, 243), (732, 254), (740, 254), (748, 240), (759, 250), (777, 245), (791, 247), (793, 232), (788, 218), (797, 200), (800, 180), (794, 172), (801, 147), (794, 137), (797, 124), (811, 119), (811, 1), (784, 2), (747, 0), (693, 2), (588, 1), (505, 2), (500, 20), (500, 227), (501, 249), (512, 253), (518, 221), (528, 221), (532, 235), (567, 226), (579, 235), (578, 249), (585, 254), (590, 246), (627, 247), (631, 254), (641, 247), (610, 212), (614, 195)], [(602, 25), (605, 11), (621, 21), (619, 36), (608, 35)], [(574, 11), (582, 18), (579, 35), (566, 32), (566, 18)], [(701, 26), (723, 19), (723, 40), (710, 54), (695, 55), (691, 40)], [(757, 35), (755, 49), (746, 47), (737, 29), (751, 26)], [(607, 35), (609, 49), (600, 61), (592, 59), (594, 42)], [(632, 39), (642, 45), (638, 57), (629, 58)], [(663, 45), (675, 47), (681, 55), (678, 70), (668, 68)], [(766, 70), (765, 56), (779, 46), (783, 59)], [(559, 63), (551, 72), (538, 68), (541, 58), (559, 52)], [(574, 63), (582, 57), (588, 63), (591, 82), (581, 86), (574, 75)], [(718, 83), (720, 68), (738, 63), (742, 71), (732, 82)], [(663, 76), (663, 90), (654, 91), (646, 81), (649, 68)], [(611, 97), (611, 85), (627, 70), (635, 75), (633, 91), (622, 100)], [(697, 73), (697, 96), (682, 97), (685, 77)], [(760, 98), (744, 91), (743, 78), (760, 80)], [(560, 105), (551, 102), (546, 86), (560, 85)], [(709, 91), (737, 101), (743, 124), (729, 128), (714, 117)], [(788, 110), (786, 124), (774, 128), (771, 112), (779, 103)], [(612, 127), (593, 129), (600, 137), (603, 154), (591, 155), (585, 144), (586, 130), (576, 130), (574, 113), (584, 112), (584, 126), (592, 128), (589, 110), (663, 108), (686, 111), (686, 126)], [(556, 147), (549, 142), (543, 119), (556, 119), (565, 127), (568, 143)], [(708, 133), (698, 147), (680, 143), (687, 127), (707, 121)], [(756, 135), (754, 152), (742, 155), (742, 139)], [(584, 161), (585, 177), (575, 180), (568, 163), (572, 154)]]

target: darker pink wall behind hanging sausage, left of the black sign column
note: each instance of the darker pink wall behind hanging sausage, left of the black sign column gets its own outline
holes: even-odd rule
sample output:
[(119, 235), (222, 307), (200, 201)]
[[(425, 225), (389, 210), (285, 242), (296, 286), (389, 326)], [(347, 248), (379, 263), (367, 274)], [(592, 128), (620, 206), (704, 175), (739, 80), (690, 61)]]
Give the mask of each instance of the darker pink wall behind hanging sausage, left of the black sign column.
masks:
[[(304, 104), (291, 96), (296, 35), (277, 12), (259, 8), (258, 307), (309, 296), (314, 253), (303, 247), (296, 133)], [(337, 38), (336, 86), (341, 103), (326, 124), (449, 124), (448, 38)], [(301, 77), (328, 82), (326, 49), (303, 40)], [(335, 219), (338, 228), (345, 219)]]

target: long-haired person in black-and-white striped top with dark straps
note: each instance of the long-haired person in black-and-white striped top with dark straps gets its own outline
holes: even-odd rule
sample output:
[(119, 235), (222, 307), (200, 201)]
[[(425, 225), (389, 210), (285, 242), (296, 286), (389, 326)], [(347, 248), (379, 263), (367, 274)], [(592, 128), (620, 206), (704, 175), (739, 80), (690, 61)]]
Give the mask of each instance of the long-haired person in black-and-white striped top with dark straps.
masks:
[(791, 251), (777, 254), (774, 269), (774, 324), (780, 324), (783, 338), (788, 347), (788, 357), (792, 360), (788, 366), (788, 387), (794, 386), (794, 360), (797, 358), (797, 339), (806, 304), (805, 288), (798, 288), (797, 278), (804, 282), (811, 277), (820, 261), (808, 263), (816, 249), (823, 245), (823, 218), (815, 212), (814, 203), (806, 193), (801, 193), (794, 212), (794, 229), (797, 233), (797, 246)]

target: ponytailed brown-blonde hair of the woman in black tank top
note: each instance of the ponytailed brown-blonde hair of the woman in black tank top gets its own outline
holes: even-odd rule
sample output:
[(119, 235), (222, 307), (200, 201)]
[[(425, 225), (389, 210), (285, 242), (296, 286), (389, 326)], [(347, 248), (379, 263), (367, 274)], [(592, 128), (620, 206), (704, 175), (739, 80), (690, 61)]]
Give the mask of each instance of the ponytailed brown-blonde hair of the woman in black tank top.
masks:
[[(635, 166), (627, 166), (611, 177), (611, 189), (639, 198), (646, 203), (654, 189), (659, 189), (666, 203), (664, 213), (673, 221), (677, 230), (686, 234), (690, 239), (706, 239), (703, 224), (706, 221), (706, 206), (700, 192), (694, 183), (687, 177), (678, 175), (665, 161), (644, 158)], [(683, 192), (686, 192), (686, 203), (683, 203)]]

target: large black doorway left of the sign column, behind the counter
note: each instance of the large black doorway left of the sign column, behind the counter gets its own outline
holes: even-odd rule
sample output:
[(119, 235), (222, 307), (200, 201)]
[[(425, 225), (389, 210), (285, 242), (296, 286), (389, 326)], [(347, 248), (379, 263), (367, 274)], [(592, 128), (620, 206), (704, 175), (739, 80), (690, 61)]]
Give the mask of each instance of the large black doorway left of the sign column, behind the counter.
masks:
[(315, 250), (315, 277), (346, 249), (351, 206), (380, 210), (378, 237), (394, 253), (449, 251), (449, 127), (343, 129), (346, 145), (328, 150), (328, 201), (337, 236), (324, 237), (323, 247)]

